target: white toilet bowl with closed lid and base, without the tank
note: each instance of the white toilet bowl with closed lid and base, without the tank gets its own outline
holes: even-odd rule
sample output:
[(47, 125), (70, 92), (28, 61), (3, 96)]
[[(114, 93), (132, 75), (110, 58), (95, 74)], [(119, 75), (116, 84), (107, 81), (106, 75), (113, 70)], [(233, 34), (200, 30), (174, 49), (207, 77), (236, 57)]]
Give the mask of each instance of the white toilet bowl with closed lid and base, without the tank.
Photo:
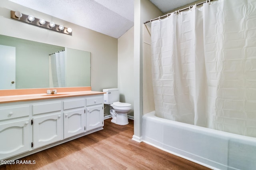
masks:
[(111, 122), (117, 125), (127, 125), (129, 123), (127, 113), (131, 109), (132, 105), (129, 103), (114, 102), (110, 104)]

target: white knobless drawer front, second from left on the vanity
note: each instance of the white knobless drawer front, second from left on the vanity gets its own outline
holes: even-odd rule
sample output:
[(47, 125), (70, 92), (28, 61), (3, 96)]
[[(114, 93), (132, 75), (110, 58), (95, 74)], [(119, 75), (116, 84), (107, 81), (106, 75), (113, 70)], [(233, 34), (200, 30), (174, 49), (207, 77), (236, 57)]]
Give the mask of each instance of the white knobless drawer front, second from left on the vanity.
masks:
[(33, 115), (61, 110), (61, 101), (33, 104)]

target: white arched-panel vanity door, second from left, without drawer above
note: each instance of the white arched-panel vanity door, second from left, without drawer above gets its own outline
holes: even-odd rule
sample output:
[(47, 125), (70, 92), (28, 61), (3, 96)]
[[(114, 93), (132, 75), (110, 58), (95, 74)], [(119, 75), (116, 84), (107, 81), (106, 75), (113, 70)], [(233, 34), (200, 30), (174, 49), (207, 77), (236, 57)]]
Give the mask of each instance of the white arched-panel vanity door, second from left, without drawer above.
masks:
[(63, 139), (61, 112), (33, 119), (34, 149)]

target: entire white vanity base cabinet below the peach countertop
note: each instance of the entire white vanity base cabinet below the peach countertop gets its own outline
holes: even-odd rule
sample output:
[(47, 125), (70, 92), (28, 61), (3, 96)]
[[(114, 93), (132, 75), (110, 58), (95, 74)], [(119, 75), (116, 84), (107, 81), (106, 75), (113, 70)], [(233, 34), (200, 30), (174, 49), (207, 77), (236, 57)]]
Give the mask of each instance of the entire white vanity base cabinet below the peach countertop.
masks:
[(0, 160), (102, 130), (103, 103), (103, 94), (0, 103)]

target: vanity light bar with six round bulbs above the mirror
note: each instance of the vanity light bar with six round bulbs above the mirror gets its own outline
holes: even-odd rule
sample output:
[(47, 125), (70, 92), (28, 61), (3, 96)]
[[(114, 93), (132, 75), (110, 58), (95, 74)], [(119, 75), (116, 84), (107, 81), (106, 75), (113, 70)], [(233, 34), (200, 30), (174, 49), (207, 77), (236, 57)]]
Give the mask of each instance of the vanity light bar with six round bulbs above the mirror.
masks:
[(31, 15), (26, 15), (26, 14), (22, 14), (20, 12), (11, 11), (11, 18), (21, 21), (21, 22), (25, 22), (27, 24), (31, 24), (34, 26), (46, 28), (49, 30), (61, 32), (61, 33), (68, 34), (68, 35), (72, 36), (71, 28), (66, 28), (62, 25), (57, 25), (54, 22), (47, 22), (43, 19), (38, 19)]

